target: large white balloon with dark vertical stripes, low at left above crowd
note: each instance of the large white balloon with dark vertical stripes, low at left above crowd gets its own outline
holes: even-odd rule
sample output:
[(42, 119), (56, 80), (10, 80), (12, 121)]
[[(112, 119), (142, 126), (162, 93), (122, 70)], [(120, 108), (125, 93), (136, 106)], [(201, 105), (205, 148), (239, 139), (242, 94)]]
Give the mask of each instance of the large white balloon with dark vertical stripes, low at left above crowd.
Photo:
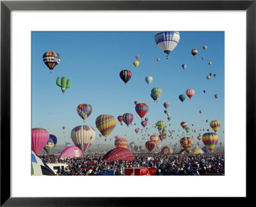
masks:
[(71, 131), (72, 141), (77, 148), (82, 150), (83, 153), (86, 153), (86, 151), (88, 151), (92, 146), (95, 135), (96, 133), (94, 128), (87, 125), (74, 127)]

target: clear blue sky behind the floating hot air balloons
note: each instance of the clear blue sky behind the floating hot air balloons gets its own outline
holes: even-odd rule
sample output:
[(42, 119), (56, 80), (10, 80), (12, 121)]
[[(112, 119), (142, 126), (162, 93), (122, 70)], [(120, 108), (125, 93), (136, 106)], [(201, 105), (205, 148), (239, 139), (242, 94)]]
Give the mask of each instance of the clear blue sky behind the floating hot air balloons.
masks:
[[(179, 137), (184, 137), (184, 130), (180, 127), (182, 121), (188, 122), (191, 130), (196, 129), (196, 133), (189, 132), (189, 137), (193, 135), (196, 143), (199, 133), (204, 134), (208, 128), (213, 132), (209, 123), (218, 119), (221, 123), (217, 132), (219, 146), (220, 142), (224, 142), (225, 135), (224, 39), (224, 32), (180, 31), (179, 44), (166, 59), (166, 54), (156, 45), (154, 32), (33, 32), (32, 128), (45, 128), (50, 134), (56, 135), (57, 144), (73, 144), (70, 139), (72, 128), (89, 125), (96, 131), (93, 144), (113, 143), (115, 148), (115, 135), (145, 146), (149, 140), (148, 134), (157, 132), (152, 125), (163, 120), (166, 122), (167, 135), (170, 135), (169, 129), (176, 130), (172, 133), (173, 139), (167, 137), (163, 142), (159, 141), (162, 146), (170, 146), (170, 142), (173, 145), (179, 142)], [(203, 49), (204, 45), (207, 45), (207, 50)], [(195, 57), (191, 55), (191, 49), (198, 50)], [(61, 56), (60, 64), (52, 73), (42, 60), (47, 51), (58, 52)], [(138, 68), (132, 64), (136, 55), (140, 56)], [(156, 60), (157, 57), (160, 61)], [(211, 66), (208, 65), (209, 61), (212, 62)], [(188, 65), (185, 70), (182, 64)], [(121, 70), (132, 72), (127, 85), (120, 79)], [(211, 72), (216, 73), (216, 77), (212, 75), (207, 80), (206, 76)], [(148, 75), (154, 79), (150, 86), (145, 82)], [(58, 77), (70, 79), (71, 86), (64, 95), (56, 85)], [(163, 89), (158, 102), (150, 97), (152, 88)], [(195, 95), (191, 100), (186, 97), (183, 103), (180, 102), (179, 95), (185, 95), (189, 88), (195, 90)], [(204, 90), (207, 92), (204, 93)], [(214, 98), (214, 94), (218, 94), (218, 98)], [(149, 106), (144, 117), (148, 118), (147, 132), (146, 129), (143, 129), (143, 133), (141, 130), (138, 134), (134, 132), (135, 128), (143, 128), (141, 118), (135, 111), (135, 100)], [(164, 102), (170, 104), (168, 109), (163, 107)], [(77, 114), (79, 104), (92, 105), (92, 114), (85, 122)], [(164, 110), (170, 112), (171, 121), (168, 121)], [(134, 115), (133, 124), (129, 127), (125, 123), (121, 126), (117, 120), (125, 113)], [(100, 132), (95, 127), (95, 119), (101, 114), (111, 114), (116, 118), (116, 127), (107, 142), (104, 137), (99, 137)], [(209, 119), (208, 123), (206, 119)], [(63, 126), (66, 127), (65, 134)], [(205, 131), (200, 131), (203, 128)]]

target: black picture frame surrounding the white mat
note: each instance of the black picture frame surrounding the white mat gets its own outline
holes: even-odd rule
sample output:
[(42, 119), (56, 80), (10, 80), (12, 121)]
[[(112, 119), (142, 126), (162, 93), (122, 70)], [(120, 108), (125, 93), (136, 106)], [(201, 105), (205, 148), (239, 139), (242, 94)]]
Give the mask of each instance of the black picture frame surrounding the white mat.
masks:
[[(246, 169), (242, 170), (246, 170), (246, 200), (252, 198), (255, 176), (250, 169), (250, 164), (255, 163), (253, 162), (255, 156), (252, 153), (255, 153), (256, 145), (253, 133), (256, 128), (255, 1), (1, 1), (1, 206), (158, 206), (158, 199), (160, 199), (159, 197), (136, 199), (131, 197), (51, 197), (47, 199), (45, 197), (10, 197), (10, 156), (6, 155), (10, 155), (11, 151), (10, 12), (12, 10), (246, 10)], [(161, 203), (170, 203), (175, 199), (180, 198), (171, 200), (171, 197), (162, 197)]]

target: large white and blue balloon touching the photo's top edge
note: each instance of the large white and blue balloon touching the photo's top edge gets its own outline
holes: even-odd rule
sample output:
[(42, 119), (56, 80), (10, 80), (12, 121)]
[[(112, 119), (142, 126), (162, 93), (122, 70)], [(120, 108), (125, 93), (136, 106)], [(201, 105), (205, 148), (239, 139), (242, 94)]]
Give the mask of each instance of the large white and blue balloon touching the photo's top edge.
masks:
[(155, 41), (159, 49), (168, 55), (178, 45), (180, 33), (178, 31), (162, 31), (155, 33)]

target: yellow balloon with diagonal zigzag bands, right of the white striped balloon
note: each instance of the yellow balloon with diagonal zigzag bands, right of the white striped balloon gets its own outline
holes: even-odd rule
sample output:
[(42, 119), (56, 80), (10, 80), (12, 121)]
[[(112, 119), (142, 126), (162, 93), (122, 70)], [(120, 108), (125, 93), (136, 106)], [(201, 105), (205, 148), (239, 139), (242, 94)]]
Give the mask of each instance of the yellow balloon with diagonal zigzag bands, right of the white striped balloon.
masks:
[(100, 133), (107, 138), (116, 127), (116, 119), (112, 115), (103, 114), (96, 118), (95, 124)]

